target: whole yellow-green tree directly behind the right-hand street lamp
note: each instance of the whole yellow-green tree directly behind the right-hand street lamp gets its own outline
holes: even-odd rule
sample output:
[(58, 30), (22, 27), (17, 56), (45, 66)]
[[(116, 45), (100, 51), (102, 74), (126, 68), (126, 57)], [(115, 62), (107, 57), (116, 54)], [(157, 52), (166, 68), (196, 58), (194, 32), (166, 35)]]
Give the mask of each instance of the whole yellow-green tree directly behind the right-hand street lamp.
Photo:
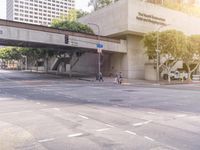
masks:
[(168, 73), (168, 81), (171, 81), (170, 72), (172, 67), (181, 59), (182, 52), (187, 49), (186, 36), (176, 30), (167, 30), (163, 32), (151, 32), (144, 36), (143, 42), (146, 48), (146, 54), (150, 59), (156, 60), (157, 38), (159, 38), (159, 55), (161, 56), (161, 64), (159, 68), (163, 68)]

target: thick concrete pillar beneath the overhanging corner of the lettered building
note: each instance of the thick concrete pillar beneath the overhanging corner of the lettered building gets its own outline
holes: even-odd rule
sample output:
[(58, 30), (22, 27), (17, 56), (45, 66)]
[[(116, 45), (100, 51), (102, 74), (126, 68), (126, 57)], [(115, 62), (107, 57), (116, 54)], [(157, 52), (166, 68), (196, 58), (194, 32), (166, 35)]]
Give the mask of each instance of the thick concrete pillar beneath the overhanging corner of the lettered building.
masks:
[(125, 78), (144, 79), (145, 62), (147, 57), (142, 45), (142, 37), (136, 35), (128, 35), (126, 54), (115, 53), (111, 55), (112, 73), (122, 72)]

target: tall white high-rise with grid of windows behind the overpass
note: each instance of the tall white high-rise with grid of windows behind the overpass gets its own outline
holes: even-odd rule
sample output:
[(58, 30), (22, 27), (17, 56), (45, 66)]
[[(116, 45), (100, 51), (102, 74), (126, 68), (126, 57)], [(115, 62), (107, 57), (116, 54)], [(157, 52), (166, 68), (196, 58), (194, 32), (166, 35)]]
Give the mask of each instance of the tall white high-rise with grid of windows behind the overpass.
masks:
[(75, 0), (7, 0), (7, 19), (48, 26), (74, 8)]

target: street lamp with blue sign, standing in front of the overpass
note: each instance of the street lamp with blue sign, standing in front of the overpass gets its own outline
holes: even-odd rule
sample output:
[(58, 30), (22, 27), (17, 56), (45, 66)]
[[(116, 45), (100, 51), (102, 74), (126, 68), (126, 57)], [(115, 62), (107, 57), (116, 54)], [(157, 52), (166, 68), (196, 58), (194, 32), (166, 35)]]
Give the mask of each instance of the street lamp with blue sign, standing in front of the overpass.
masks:
[[(97, 29), (98, 29), (97, 39), (98, 39), (98, 44), (100, 45), (101, 41), (100, 41), (100, 27), (99, 27), (99, 25), (95, 24), (95, 23), (88, 23), (88, 25), (93, 25), (93, 26), (97, 27)], [(100, 73), (101, 73), (101, 53), (102, 53), (102, 51), (98, 49), (97, 52), (98, 52), (98, 77), (99, 77)]]

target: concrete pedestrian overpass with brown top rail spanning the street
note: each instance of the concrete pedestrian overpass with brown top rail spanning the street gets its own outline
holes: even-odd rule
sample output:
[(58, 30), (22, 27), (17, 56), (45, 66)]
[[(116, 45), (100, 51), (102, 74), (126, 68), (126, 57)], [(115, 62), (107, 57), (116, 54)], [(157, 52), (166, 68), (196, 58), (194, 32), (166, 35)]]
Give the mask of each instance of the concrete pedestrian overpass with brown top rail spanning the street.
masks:
[[(106, 52), (126, 53), (126, 41), (100, 36)], [(96, 52), (98, 36), (0, 19), (0, 45)]]

